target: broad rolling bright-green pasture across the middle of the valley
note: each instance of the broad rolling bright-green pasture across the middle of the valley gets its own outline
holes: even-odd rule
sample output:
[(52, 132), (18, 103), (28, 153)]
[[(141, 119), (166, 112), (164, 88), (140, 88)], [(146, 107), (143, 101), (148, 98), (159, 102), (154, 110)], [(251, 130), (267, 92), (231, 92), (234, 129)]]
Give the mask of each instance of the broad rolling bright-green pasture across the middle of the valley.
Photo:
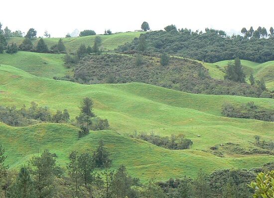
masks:
[[(56, 152), (58, 163), (64, 165), (71, 150), (92, 149), (100, 138), (105, 139), (114, 167), (125, 164), (130, 173), (141, 179), (151, 174), (159, 180), (184, 174), (194, 176), (200, 168), (207, 172), (218, 168), (251, 168), (274, 160), (273, 156), (259, 154), (226, 154), (220, 158), (201, 151), (227, 142), (249, 149), (256, 134), (265, 140), (273, 138), (274, 123), (220, 117), (224, 101), (254, 101), (274, 109), (272, 99), (196, 95), (143, 83), (82, 85), (35, 77), (12, 66), (0, 66), (3, 106), (20, 107), (35, 101), (53, 111), (67, 108), (74, 118), (79, 113), (81, 99), (86, 96), (94, 99), (96, 115), (109, 120), (111, 131), (91, 132), (78, 140), (78, 129), (68, 125), (13, 128), (0, 124), (0, 139), (11, 167), (26, 163), (38, 147)], [(167, 150), (127, 136), (135, 130), (160, 135), (184, 133), (193, 141), (193, 146), (190, 150)]]

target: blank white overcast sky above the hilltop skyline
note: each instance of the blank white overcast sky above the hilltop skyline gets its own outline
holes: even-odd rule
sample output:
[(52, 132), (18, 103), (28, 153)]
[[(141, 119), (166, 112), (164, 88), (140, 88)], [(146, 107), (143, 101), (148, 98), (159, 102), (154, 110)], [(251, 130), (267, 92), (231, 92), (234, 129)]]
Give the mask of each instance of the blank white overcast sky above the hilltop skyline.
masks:
[(274, 26), (274, 0), (1, 0), (3, 28), (64, 37), (74, 29), (125, 32), (147, 21), (152, 30), (206, 27), (239, 33), (242, 27)]

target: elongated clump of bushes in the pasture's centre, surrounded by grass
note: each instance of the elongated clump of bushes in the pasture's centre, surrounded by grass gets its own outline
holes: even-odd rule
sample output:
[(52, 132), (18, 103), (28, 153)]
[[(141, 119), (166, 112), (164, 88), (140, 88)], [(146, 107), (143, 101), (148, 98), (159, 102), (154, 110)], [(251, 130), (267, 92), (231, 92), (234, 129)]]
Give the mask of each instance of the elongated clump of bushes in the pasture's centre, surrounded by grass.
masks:
[(161, 137), (159, 135), (155, 135), (153, 132), (151, 132), (150, 134), (147, 134), (146, 132), (141, 132), (139, 134), (135, 133), (131, 135), (131, 137), (142, 139), (154, 145), (174, 150), (189, 149), (193, 144), (190, 139), (185, 138), (184, 134), (171, 134), (170, 137)]

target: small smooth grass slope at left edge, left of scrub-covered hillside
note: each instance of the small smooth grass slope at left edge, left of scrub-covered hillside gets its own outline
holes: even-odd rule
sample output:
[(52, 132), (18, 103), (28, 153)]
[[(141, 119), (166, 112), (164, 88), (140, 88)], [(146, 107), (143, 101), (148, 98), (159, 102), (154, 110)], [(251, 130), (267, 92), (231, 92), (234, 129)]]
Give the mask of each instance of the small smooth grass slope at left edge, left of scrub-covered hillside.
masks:
[(64, 76), (71, 73), (71, 69), (64, 67), (64, 55), (41, 54), (19, 51), (16, 54), (0, 54), (0, 64), (15, 66), (36, 76), (49, 77)]

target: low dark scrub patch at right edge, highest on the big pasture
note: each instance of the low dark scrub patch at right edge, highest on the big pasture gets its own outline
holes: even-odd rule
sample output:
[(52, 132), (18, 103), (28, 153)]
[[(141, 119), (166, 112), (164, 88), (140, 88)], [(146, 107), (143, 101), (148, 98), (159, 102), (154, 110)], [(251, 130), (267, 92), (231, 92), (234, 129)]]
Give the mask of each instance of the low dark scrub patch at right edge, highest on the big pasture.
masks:
[(222, 108), (222, 114), (230, 118), (248, 118), (274, 122), (274, 112), (258, 107), (254, 102), (243, 105), (225, 103)]

